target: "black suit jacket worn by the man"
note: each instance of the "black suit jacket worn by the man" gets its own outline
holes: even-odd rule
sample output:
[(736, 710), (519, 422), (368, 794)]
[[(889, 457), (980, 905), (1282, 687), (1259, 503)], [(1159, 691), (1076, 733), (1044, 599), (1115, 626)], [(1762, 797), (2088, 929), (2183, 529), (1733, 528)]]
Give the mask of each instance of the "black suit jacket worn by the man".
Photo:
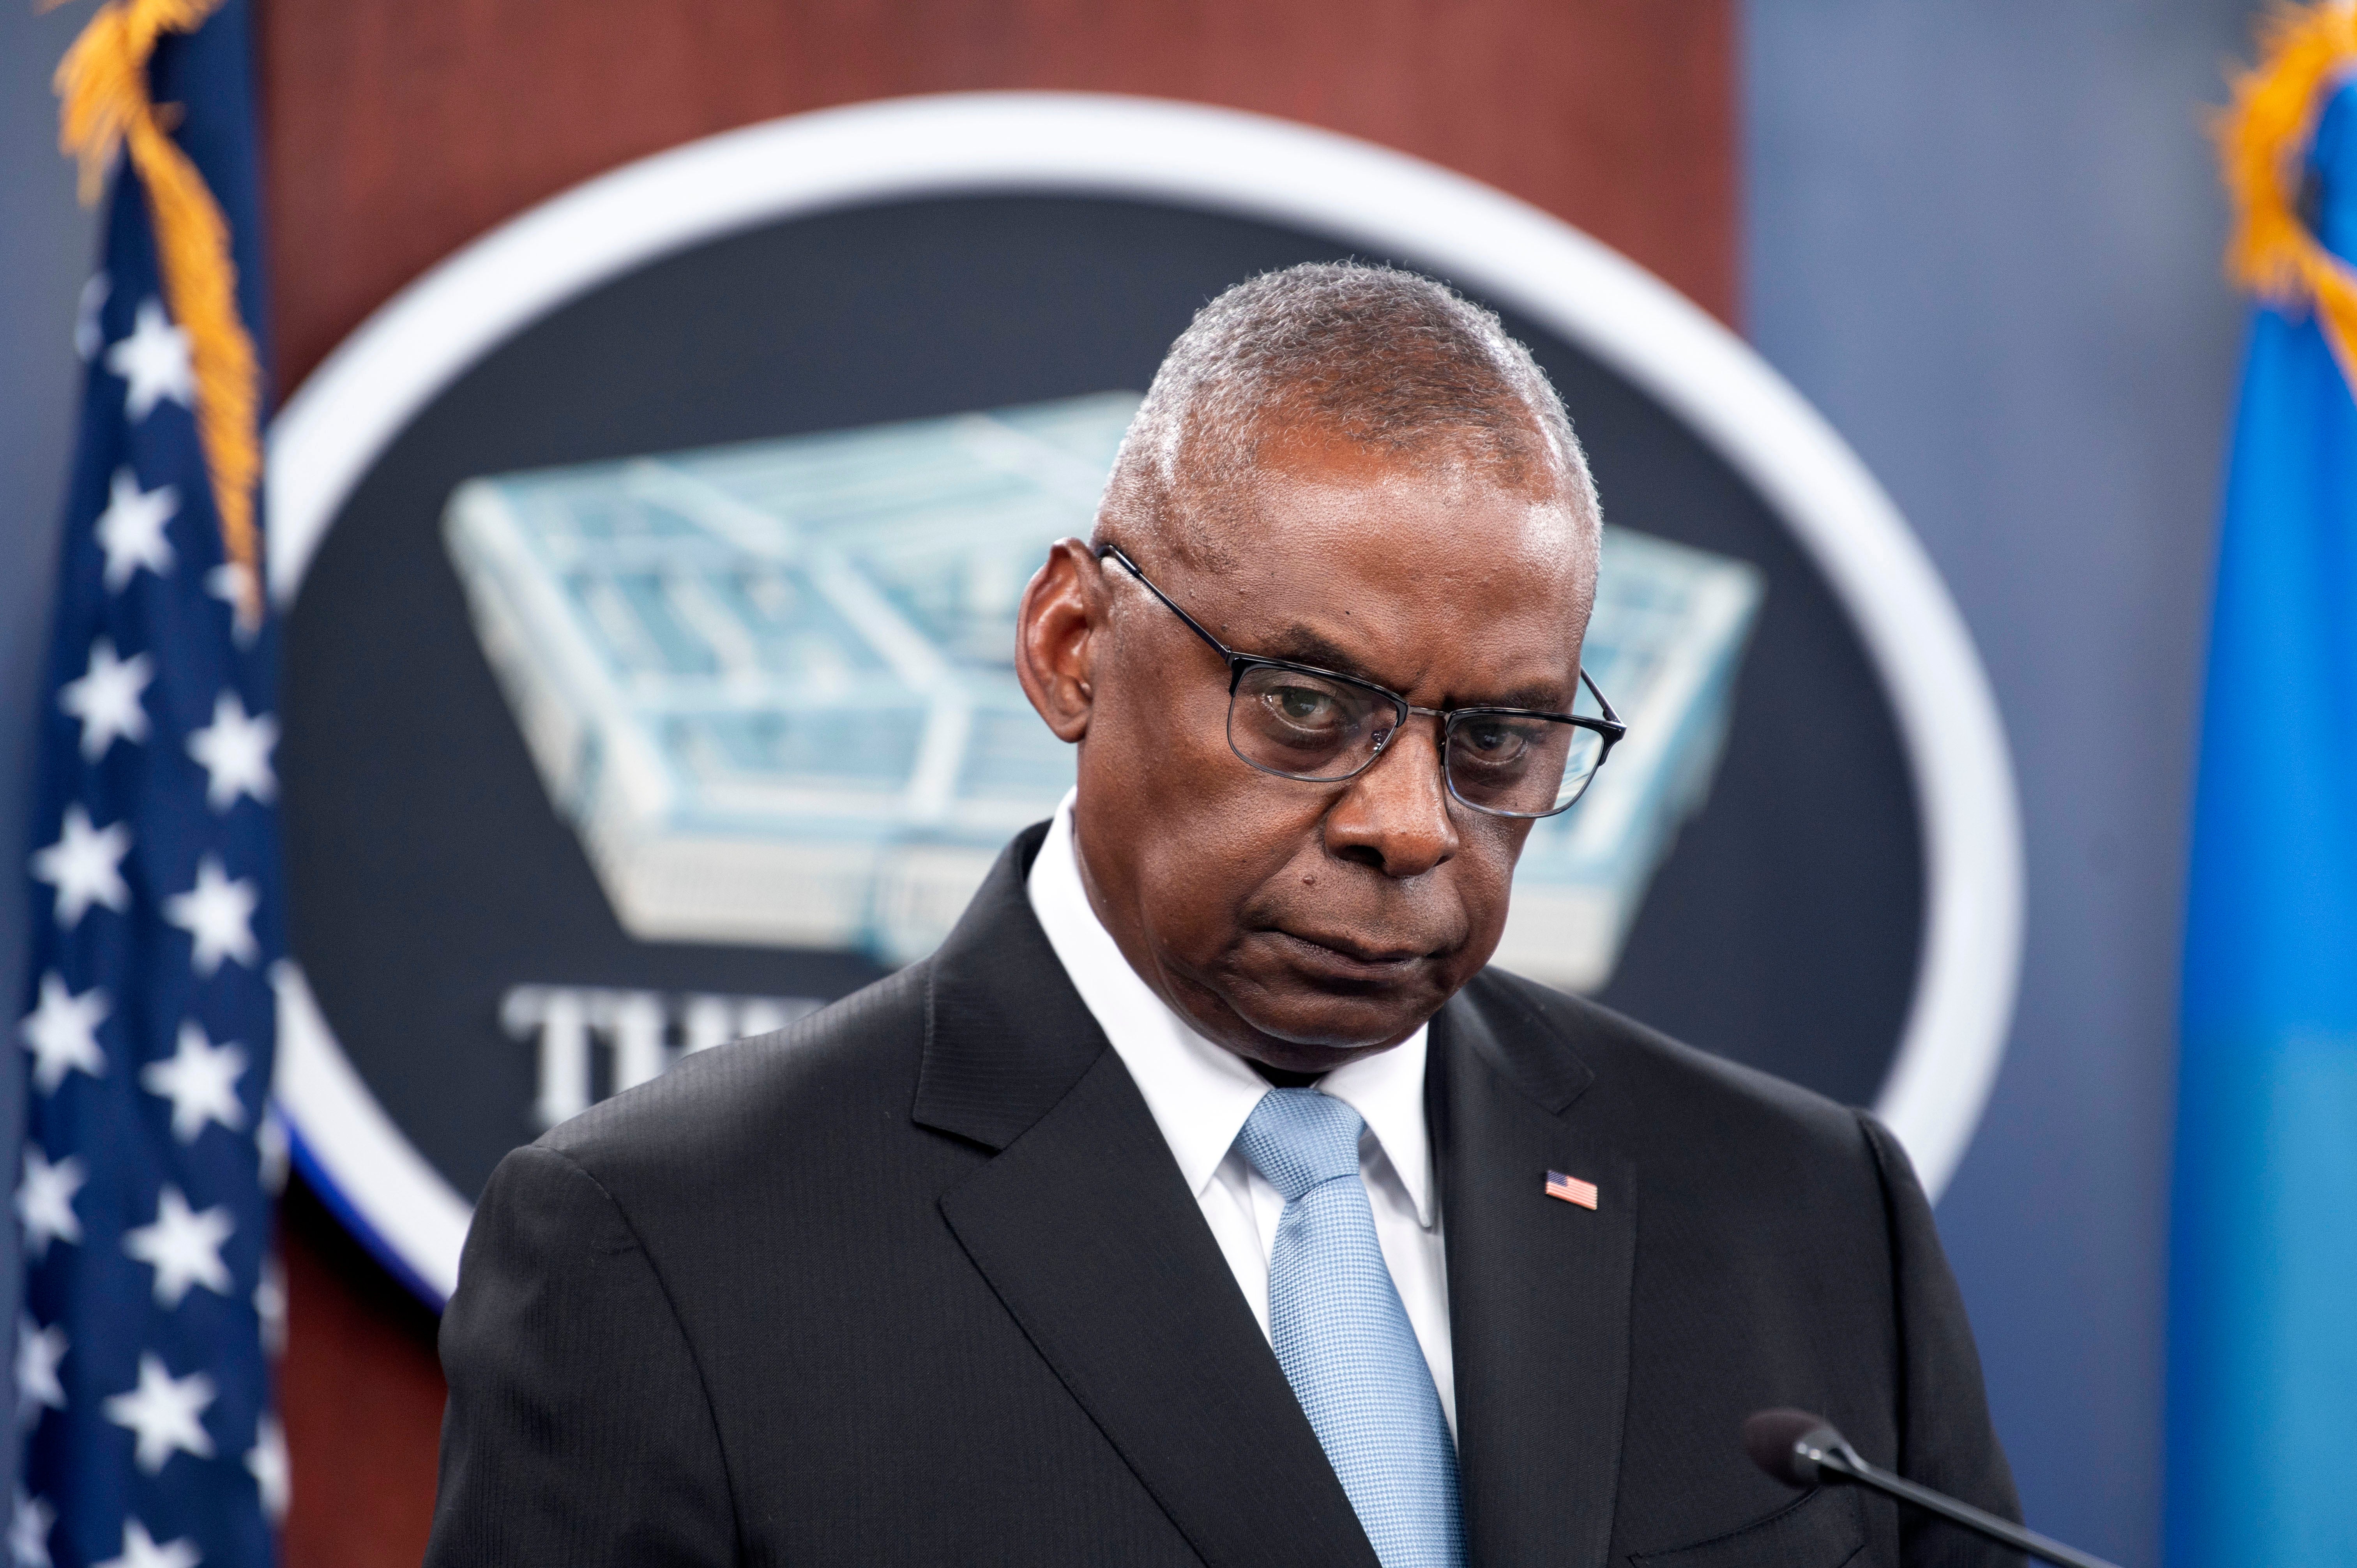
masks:
[[(931, 960), (500, 1165), (441, 1330), (429, 1566), (1376, 1568), (1030, 913), (1039, 839)], [(1499, 971), (1433, 1021), (1426, 1094), (1471, 1563), (1980, 1561), (1737, 1443), (1801, 1405), (2015, 1511), (1871, 1118)]]

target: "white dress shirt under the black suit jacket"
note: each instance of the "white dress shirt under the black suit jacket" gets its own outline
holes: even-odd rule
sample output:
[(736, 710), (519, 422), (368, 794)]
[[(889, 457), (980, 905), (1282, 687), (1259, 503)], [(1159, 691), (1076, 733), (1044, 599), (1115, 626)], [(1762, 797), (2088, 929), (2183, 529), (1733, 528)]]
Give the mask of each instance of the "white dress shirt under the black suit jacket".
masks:
[[(1032, 861), (1030, 905), (1080, 1000), (1089, 1004), (1146, 1096), (1146, 1108), (1155, 1113), (1178, 1174), (1202, 1205), (1204, 1224), (1235, 1271), (1261, 1335), (1268, 1335), (1268, 1252), (1277, 1240), (1285, 1198), (1235, 1151), (1235, 1134), (1244, 1129), (1244, 1118), (1261, 1103), (1268, 1082), (1242, 1056), (1195, 1033), (1122, 957), (1080, 884), (1072, 795), (1056, 806), (1056, 821)], [(1433, 1193), (1433, 1144), (1424, 1125), (1424, 1042), (1426, 1030), (1419, 1028), (1388, 1052), (1334, 1068), (1318, 1080), (1318, 1089), (1367, 1122), (1358, 1141), (1358, 1170), (1374, 1210), (1374, 1233), (1454, 1434), (1450, 1276)]]

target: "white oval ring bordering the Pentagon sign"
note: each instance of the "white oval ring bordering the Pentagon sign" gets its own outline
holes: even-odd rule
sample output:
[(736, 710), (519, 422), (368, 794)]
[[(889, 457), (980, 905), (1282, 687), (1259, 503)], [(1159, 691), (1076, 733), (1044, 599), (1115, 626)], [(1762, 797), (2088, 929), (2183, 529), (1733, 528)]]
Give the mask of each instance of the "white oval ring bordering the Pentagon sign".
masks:
[[(771, 120), (580, 184), (377, 309), (269, 439), (269, 580), (295, 601), (346, 495), (424, 406), (568, 299), (691, 245), (837, 205), (1056, 191), (1193, 205), (1426, 262), (1631, 380), (1709, 441), (1834, 585), (1897, 712), (1923, 823), (1923, 946), (1876, 1101), (1937, 1198), (2006, 1049), (2022, 837), (1996, 698), (1897, 507), (1739, 337), (1626, 257), (1464, 174), (1287, 120), (1113, 94), (969, 92)], [(448, 1299), (471, 1205), (417, 1155), (302, 976), (276, 1094), (306, 1170), (387, 1261)]]

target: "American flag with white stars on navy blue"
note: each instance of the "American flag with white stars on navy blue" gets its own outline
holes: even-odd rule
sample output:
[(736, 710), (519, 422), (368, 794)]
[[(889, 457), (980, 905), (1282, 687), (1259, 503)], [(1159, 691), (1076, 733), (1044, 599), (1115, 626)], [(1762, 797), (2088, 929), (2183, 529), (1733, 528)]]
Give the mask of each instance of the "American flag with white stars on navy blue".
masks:
[[(259, 323), (247, 61), (243, 0), (229, 0), (196, 33), (165, 33), (146, 71), (134, 59), (113, 78), (181, 108), (151, 118), (146, 144), (130, 127), (75, 328), (82, 427), (16, 1026), (24, 1467), (7, 1544), (19, 1568), (259, 1568), (288, 1490), (264, 1351), (283, 1320), (264, 1170), (276, 1162), (269, 967), (283, 953), (276, 632), (255, 592), (255, 533), (243, 561), (224, 545), (224, 512), (252, 502), (222, 505), (222, 431), (200, 431), (224, 406), (255, 417), (252, 356), (240, 408), (214, 347), (222, 321), (240, 351), (238, 323)], [(184, 266), (186, 207), (174, 219), (156, 198), (174, 167), (203, 179), (229, 224), (226, 255), (210, 231), (212, 314), (189, 307), (203, 304), (189, 276), (203, 269)]]

